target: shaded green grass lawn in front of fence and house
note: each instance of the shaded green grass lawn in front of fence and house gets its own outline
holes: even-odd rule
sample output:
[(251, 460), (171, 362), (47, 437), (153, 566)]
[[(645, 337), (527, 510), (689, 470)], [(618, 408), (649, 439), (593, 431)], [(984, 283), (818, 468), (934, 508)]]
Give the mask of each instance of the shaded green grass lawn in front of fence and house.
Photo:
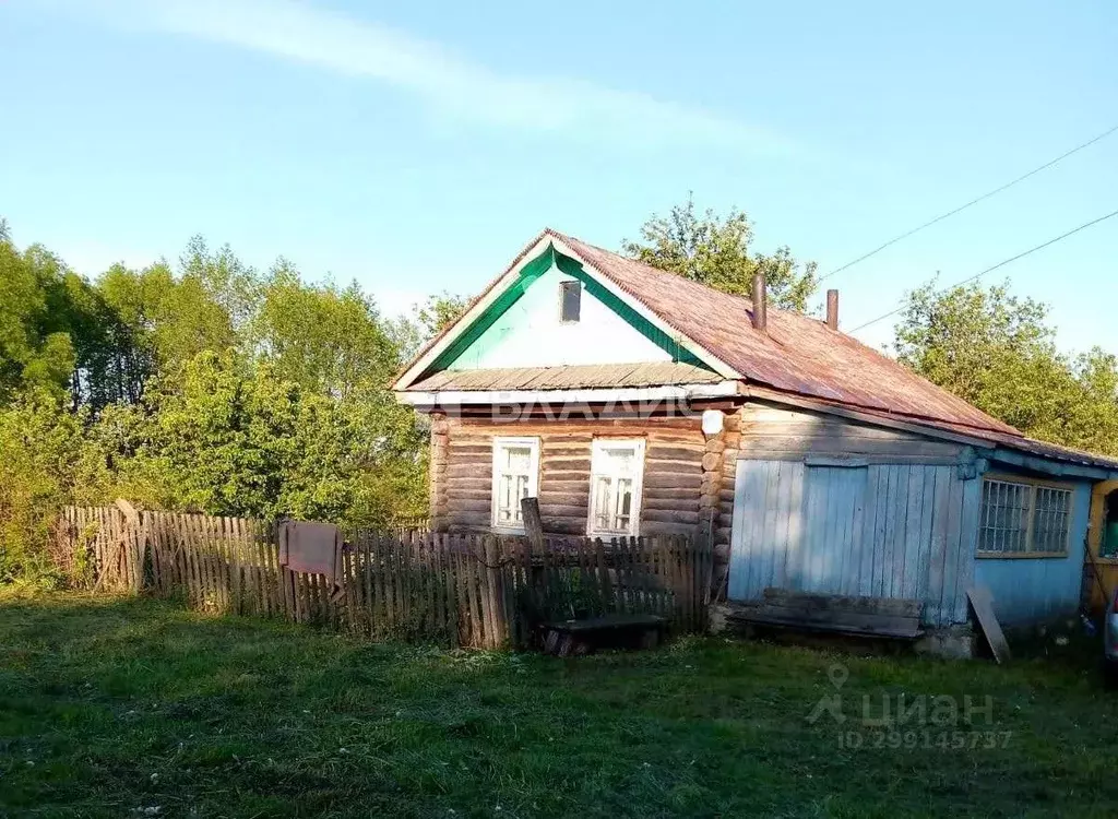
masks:
[[(1118, 700), (1074, 646), (1050, 650), (999, 668), (711, 639), (559, 660), (0, 597), (0, 815), (1110, 816)], [(835, 663), (860, 749), (806, 719)], [(901, 691), (992, 696), (976, 729), (1007, 746), (909, 724), (927, 747), (874, 747), (861, 697)]]

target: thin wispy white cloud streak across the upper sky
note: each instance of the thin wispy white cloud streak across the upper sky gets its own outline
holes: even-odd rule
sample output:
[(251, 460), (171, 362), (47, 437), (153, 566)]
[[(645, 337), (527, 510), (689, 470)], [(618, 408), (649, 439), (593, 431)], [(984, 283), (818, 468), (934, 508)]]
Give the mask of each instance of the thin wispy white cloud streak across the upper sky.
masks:
[(788, 148), (760, 129), (701, 109), (575, 79), (505, 76), (436, 43), (293, 0), (104, 0), (92, 8), (119, 25), (368, 77), (477, 124), (626, 143)]

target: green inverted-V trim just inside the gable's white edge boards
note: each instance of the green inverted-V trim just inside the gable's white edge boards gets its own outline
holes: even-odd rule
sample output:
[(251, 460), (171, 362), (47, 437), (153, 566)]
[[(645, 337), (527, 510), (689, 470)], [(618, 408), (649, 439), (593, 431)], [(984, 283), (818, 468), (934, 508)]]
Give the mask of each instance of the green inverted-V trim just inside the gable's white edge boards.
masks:
[(679, 339), (673, 338), (660, 328), (655, 327), (652, 322), (647, 321), (639, 313), (637, 313), (636, 310), (604, 288), (597, 279), (582, 270), (582, 265), (578, 262), (578, 260), (559, 253), (556, 251), (555, 245), (549, 243), (547, 248), (540, 253), (540, 255), (531, 260), (520, 270), (520, 275), (517, 276), (517, 281), (514, 281), (503, 293), (501, 293), (501, 295), (499, 295), (496, 300), (489, 305), (485, 312), (474, 319), (470, 327), (467, 327), (449, 347), (443, 350), (438, 358), (436, 358), (430, 367), (427, 368), (424, 375), (442, 369), (449, 369), (451, 366), (462, 356), (462, 354), (464, 354), (470, 346), (474, 343), (474, 341), (481, 338), (482, 333), (490, 329), (493, 323), (506, 310), (509, 310), (509, 308), (520, 301), (524, 291), (527, 291), (537, 279), (551, 270), (552, 266), (558, 267), (560, 272), (571, 276), (572, 279), (580, 281), (590, 295), (598, 299), (622, 319), (624, 319), (629, 327), (667, 352), (672, 357), (673, 361), (692, 364), (697, 367), (710, 369), (710, 367), (699, 360), (694, 354), (684, 348), (679, 342)]

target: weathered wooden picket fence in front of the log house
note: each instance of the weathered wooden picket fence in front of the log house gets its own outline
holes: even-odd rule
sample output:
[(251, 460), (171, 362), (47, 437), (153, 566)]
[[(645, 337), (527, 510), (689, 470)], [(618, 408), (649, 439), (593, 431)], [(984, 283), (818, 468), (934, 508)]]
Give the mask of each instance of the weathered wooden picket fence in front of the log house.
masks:
[[(713, 553), (683, 537), (547, 538), (347, 533), (341, 576), (280, 565), (276, 526), (246, 518), (68, 508), (56, 550), (82, 553), (97, 589), (178, 596), (218, 613), (318, 623), (371, 639), (495, 648), (537, 625), (654, 613), (707, 627)], [(131, 512), (131, 514), (130, 514)]]

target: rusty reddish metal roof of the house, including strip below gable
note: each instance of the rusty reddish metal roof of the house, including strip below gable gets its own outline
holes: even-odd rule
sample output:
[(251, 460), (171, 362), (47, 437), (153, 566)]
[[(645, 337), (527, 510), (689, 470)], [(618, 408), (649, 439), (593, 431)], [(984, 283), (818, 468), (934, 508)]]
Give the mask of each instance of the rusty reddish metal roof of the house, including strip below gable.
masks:
[[(548, 236), (566, 245), (578, 257), (577, 261), (651, 310), (665, 324), (740, 373), (747, 385), (969, 435), (1040, 458), (1118, 470), (1116, 459), (1025, 437), (1018, 430), (921, 378), (894, 359), (830, 329), (819, 319), (769, 307), (767, 330), (757, 330), (752, 326), (752, 302), (747, 298), (711, 290), (550, 228), (534, 237), (508, 269), (474, 299), (471, 307), (485, 298), (505, 273)], [(456, 326), (446, 328), (424, 347), (415, 360), (418, 361), (455, 330)], [(688, 368), (691, 370), (688, 374), (682, 369), (642, 369), (659, 366), (662, 365), (540, 367), (473, 373), (444, 370), (426, 375), (423, 380), (404, 388), (544, 389), (721, 380), (721, 376), (691, 365), (670, 365)], [(705, 374), (708, 378), (700, 380), (699, 374)]]

